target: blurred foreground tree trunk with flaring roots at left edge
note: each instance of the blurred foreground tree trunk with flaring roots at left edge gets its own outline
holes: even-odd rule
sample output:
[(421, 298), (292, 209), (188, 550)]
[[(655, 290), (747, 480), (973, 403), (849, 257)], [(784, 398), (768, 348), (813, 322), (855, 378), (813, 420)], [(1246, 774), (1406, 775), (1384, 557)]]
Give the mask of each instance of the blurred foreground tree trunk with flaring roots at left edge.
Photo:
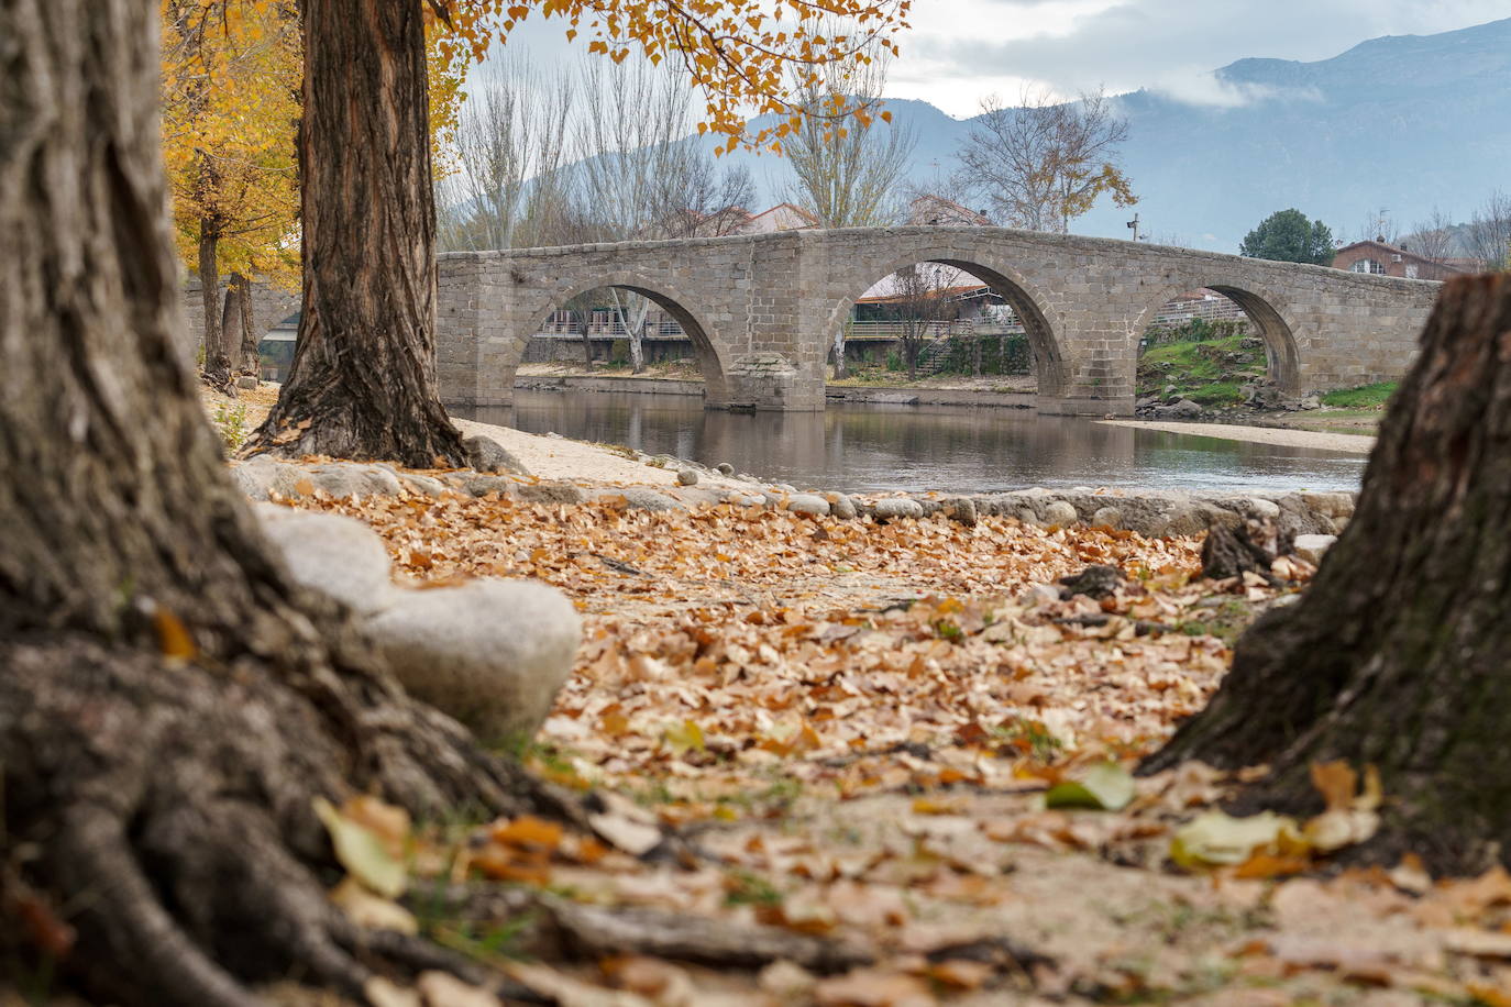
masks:
[(62, 950), (24, 906), (100, 1001), (358, 995), (437, 953), (332, 907), (311, 802), (529, 784), (263, 550), (175, 350), (156, 32), (142, 0), (0, 3), (0, 962)]

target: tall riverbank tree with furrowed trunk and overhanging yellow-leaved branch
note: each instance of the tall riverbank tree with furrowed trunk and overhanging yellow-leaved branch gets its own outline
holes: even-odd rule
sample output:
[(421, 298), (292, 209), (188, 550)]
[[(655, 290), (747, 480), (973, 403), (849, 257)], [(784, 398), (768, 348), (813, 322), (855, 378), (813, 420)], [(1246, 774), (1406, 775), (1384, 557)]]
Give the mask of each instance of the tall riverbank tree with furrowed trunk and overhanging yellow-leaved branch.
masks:
[[(789, 66), (854, 51), (854, 39), (804, 29), (814, 9), (836, 9), (891, 44), (911, 0), (792, 0), (798, 27), (762, 0), (689, 8), (662, 0), (547, 3), (583, 20), (592, 53), (623, 62), (639, 50), (674, 60), (704, 95), (704, 125), (774, 142), (777, 127), (746, 134), (754, 112), (796, 115), (783, 89)], [(304, 311), (295, 359), (251, 453), (387, 457), (409, 465), (467, 462), (435, 380), (435, 208), (431, 187), (423, 18), (446, 26), (443, 56), (480, 59), (530, 6), (503, 0), (305, 0), (304, 119), (299, 128)]]

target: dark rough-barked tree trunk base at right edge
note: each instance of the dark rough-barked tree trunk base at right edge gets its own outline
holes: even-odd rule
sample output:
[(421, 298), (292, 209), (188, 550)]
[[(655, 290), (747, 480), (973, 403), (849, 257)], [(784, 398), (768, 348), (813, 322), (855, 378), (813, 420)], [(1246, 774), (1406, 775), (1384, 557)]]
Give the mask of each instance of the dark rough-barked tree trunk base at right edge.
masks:
[(1147, 768), (1268, 764), (1248, 806), (1302, 809), (1307, 765), (1380, 767), (1386, 826), (1358, 851), (1440, 870), (1511, 847), (1511, 276), (1449, 281), (1364, 474), (1295, 605)]

